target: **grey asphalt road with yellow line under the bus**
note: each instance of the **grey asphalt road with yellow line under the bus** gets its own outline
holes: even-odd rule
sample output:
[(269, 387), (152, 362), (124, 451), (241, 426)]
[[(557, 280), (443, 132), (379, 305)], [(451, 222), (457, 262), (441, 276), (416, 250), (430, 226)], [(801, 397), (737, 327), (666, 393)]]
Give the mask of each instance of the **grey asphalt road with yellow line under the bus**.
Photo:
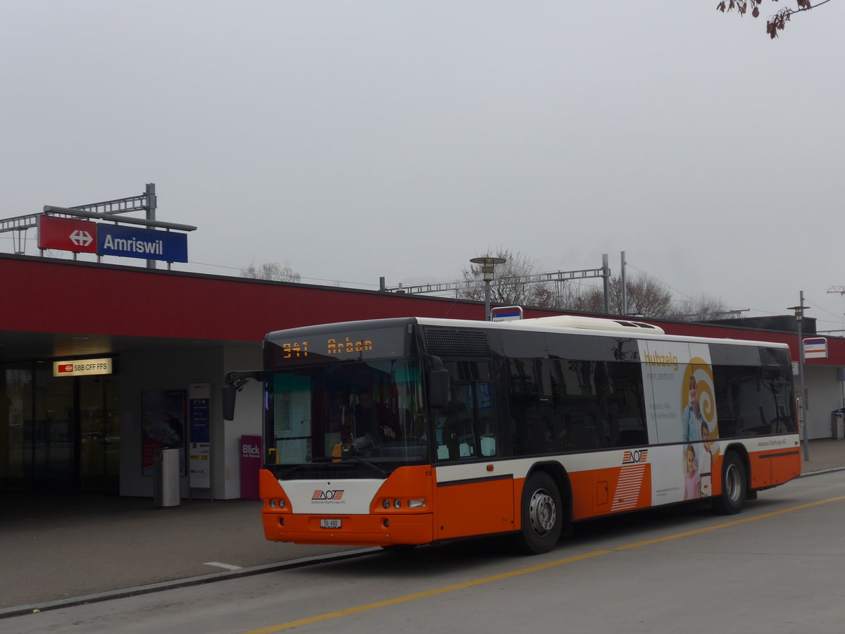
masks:
[(500, 541), (378, 553), (0, 620), (0, 631), (269, 634), (843, 631), (845, 472), (738, 516), (650, 511), (580, 525), (547, 555)]

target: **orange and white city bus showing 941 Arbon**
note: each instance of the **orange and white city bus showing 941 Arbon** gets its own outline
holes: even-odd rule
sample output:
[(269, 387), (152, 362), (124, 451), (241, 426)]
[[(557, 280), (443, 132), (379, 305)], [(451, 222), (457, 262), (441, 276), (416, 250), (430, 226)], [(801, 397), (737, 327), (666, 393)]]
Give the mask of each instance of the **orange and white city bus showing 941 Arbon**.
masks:
[(739, 512), (801, 472), (788, 347), (629, 320), (401, 318), (271, 332), (266, 538), (434, 544), (711, 498)]

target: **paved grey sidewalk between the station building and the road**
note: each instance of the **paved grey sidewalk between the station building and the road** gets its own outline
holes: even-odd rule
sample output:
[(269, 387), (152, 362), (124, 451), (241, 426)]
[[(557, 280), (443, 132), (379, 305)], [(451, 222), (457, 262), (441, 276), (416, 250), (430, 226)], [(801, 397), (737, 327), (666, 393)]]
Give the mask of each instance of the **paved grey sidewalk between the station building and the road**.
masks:
[[(809, 449), (804, 475), (845, 469), (845, 440), (811, 440)], [(260, 508), (254, 500), (182, 500), (163, 510), (148, 498), (0, 494), (0, 617), (121, 588), (355, 551), (268, 542)]]

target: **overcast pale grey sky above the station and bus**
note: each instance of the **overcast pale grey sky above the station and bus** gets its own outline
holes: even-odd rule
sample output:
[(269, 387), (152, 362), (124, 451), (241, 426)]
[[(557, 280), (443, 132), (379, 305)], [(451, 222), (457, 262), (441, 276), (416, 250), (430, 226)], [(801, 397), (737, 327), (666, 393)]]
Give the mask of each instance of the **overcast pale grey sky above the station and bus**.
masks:
[(176, 270), (375, 288), (625, 251), (679, 298), (804, 290), (845, 328), (845, 1), (776, 41), (715, 5), (8, 0), (0, 217), (156, 183), (199, 227)]

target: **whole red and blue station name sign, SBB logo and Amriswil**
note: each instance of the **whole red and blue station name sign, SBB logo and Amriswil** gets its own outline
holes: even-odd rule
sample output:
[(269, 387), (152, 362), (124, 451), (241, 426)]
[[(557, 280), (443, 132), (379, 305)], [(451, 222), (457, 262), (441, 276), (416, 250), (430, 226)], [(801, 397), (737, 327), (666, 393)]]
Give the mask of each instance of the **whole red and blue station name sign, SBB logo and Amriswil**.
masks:
[(188, 235), (185, 233), (46, 214), (38, 218), (38, 247), (122, 258), (188, 261)]

